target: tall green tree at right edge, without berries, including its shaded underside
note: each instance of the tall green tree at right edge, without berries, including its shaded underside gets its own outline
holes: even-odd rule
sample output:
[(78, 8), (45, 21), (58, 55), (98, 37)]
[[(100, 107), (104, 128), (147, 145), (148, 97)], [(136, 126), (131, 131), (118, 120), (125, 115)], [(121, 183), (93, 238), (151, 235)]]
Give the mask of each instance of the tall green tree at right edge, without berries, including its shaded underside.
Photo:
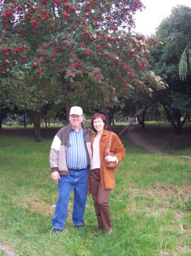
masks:
[(191, 77), (185, 81), (179, 79), (181, 55), (191, 41), (190, 26), (191, 9), (186, 6), (174, 7), (171, 15), (163, 20), (156, 31), (155, 37), (162, 42), (161, 48), (152, 51), (154, 72), (163, 77), (169, 86), (165, 92), (160, 92), (160, 102), (169, 119), (172, 119), (177, 134), (181, 134), (181, 127), (190, 115), (185, 100), (190, 101)]

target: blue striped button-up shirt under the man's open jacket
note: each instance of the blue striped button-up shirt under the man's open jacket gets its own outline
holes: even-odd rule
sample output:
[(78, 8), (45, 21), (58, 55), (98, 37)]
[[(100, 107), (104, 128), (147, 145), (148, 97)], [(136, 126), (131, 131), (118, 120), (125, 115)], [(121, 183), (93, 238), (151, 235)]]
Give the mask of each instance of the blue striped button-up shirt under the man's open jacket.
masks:
[(78, 132), (75, 129), (71, 130), (66, 158), (67, 167), (71, 170), (87, 168), (86, 142), (82, 126)]

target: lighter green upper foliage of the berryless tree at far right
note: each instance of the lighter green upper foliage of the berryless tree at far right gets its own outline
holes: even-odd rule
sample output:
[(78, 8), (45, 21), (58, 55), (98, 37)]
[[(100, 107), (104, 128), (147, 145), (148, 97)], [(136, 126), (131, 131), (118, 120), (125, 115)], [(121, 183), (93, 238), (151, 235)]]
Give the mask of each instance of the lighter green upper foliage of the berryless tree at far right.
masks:
[(156, 57), (159, 74), (162, 72), (169, 79), (177, 79), (179, 77), (179, 62), (185, 47), (190, 43), (189, 24), (191, 10), (186, 6), (176, 6), (172, 9), (171, 15), (160, 23), (156, 38), (163, 44), (156, 49)]

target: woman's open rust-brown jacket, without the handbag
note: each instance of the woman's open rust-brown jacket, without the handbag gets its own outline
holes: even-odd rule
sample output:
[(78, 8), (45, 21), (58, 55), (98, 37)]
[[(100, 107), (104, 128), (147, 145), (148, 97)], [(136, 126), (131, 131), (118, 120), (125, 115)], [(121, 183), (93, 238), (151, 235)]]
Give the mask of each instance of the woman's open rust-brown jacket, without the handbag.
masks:
[[(109, 141), (109, 135), (111, 134), (111, 131), (103, 130), (103, 133), (100, 138), (100, 174), (101, 174), (101, 183), (103, 189), (108, 188), (114, 188), (115, 187), (115, 181), (114, 181), (114, 170), (109, 170), (105, 167), (105, 148), (108, 146)], [(93, 141), (95, 138), (95, 134), (91, 135), (90, 141), (91, 141), (91, 148), (93, 145)], [(121, 143), (120, 138), (117, 136), (117, 134), (113, 133), (112, 136), (112, 142), (111, 142), (111, 148), (110, 150), (114, 152), (114, 155), (117, 156), (117, 159), (119, 162), (124, 158), (126, 152), (124, 145)], [(92, 154), (94, 152), (92, 151)], [(89, 183), (90, 184), (90, 183)], [(88, 194), (90, 195), (91, 188), (88, 186)]]

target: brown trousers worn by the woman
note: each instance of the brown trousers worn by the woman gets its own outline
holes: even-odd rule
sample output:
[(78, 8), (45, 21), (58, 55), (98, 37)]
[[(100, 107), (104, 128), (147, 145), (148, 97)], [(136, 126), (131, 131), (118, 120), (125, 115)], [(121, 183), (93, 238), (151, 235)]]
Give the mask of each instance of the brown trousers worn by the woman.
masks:
[(109, 195), (112, 189), (102, 188), (100, 169), (94, 169), (89, 172), (89, 181), (92, 198), (94, 200), (98, 229), (110, 232), (112, 230), (112, 226), (109, 209)]

